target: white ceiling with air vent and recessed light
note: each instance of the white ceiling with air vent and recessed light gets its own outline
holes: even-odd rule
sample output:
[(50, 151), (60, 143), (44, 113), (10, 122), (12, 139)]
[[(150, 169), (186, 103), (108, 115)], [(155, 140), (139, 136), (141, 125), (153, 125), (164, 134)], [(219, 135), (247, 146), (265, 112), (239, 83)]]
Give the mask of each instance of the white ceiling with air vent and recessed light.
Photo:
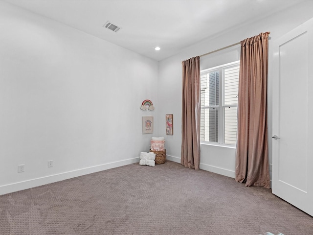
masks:
[[(157, 61), (302, 0), (6, 0)], [(103, 25), (110, 21), (121, 29)], [(155, 47), (161, 50), (155, 51)]]

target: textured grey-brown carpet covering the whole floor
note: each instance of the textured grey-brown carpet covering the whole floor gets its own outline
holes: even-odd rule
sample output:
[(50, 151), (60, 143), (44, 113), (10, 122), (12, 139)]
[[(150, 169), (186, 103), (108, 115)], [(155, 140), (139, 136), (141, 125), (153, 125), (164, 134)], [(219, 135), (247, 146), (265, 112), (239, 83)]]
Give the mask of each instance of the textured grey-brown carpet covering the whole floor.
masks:
[(313, 217), (262, 187), (167, 161), (0, 196), (0, 235), (313, 235)]

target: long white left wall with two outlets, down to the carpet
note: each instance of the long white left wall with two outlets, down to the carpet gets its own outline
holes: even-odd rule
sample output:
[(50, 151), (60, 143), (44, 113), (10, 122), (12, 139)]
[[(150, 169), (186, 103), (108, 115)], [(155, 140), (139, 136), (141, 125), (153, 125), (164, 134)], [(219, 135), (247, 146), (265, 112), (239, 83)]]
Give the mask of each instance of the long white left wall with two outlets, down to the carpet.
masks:
[[(0, 32), (0, 194), (148, 151), (141, 116), (155, 116), (157, 135), (156, 61), (3, 1)], [(145, 99), (155, 111), (139, 109)]]

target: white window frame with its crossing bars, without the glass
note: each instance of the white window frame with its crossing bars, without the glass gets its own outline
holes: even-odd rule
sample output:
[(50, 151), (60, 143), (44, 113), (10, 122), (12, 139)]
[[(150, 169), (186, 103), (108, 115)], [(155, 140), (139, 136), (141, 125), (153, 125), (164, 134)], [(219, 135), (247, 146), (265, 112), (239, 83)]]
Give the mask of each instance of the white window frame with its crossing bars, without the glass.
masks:
[[(239, 66), (240, 61), (235, 61), (231, 62), (228, 64), (216, 66), (213, 68), (201, 70), (201, 74), (203, 73), (208, 73), (208, 72), (214, 72), (214, 71), (220, 71), (220, 76), (219, 76), (219, 105), (212, 105), (212, 106), (201, 106), (201, 109), (209, 109), (209, 108), (217, 108), (219, 112), (219, 117), (218, 117), (218, 142), (212, 142), (212, 141), (200, 141), (201, 144), (209, 144), (209, 145), (218, 145), (218, 146), (224, 146), (224, 147), (235, 147), (236, 143), (230, 144), (230, 143), (224, 143), (224, 108), (225, 107), (237, 107), (238, 110), (238, 105), (224, 105), (224, 70)], [(236, 141), (237, 142), (237, 141)]]

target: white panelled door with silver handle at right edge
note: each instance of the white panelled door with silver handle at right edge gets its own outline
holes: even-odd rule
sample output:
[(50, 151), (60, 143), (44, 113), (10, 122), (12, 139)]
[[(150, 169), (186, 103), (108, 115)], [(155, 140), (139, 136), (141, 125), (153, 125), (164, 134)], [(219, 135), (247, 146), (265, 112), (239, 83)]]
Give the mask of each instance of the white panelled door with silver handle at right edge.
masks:
[(272, 192), (313, 216), (313, 19), (273, 43)]

